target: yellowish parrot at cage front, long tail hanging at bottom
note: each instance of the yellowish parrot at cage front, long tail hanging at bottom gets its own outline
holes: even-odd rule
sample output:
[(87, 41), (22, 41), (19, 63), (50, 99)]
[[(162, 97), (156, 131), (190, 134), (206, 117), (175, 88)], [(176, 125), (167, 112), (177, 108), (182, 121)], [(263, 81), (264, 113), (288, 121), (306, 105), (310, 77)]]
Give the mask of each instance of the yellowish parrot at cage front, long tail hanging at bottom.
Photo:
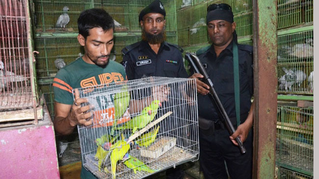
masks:
[(110, 148), (110, 151), (112, 151), (110, 160), (111, 160), (111, 169), (112, 169), (113, 179), (115, 179), (115, 175), (116, 175), (117, 161), (121, 160), (124, 157), (124, 155), (130, 150), (130, 144), (127, 144), (124, 139), (125, 138), (122, 134), (122, 140), (117, 141)]

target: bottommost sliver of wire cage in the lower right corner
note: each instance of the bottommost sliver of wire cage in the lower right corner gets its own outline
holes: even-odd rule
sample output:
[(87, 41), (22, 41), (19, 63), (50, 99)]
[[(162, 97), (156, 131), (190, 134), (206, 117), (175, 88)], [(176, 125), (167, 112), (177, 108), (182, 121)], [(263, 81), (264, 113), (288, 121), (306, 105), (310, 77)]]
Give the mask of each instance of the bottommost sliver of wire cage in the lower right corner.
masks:
[(304, 175), (302, 173), (286, 169), (284, 167), (275, 168), (275, 179), (313, 179), (313, 176)]

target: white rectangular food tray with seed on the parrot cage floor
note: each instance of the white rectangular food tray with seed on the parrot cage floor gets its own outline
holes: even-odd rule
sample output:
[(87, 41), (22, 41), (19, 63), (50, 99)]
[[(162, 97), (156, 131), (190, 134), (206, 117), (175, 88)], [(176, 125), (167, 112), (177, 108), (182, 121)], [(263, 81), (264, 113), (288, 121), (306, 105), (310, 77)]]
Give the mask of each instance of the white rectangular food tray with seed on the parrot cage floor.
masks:
[(176, 145), (176, 138), (174, 137), (160, 137), (147, 149), (140, 149), (141, 156), (149, 158), (159, 158)]

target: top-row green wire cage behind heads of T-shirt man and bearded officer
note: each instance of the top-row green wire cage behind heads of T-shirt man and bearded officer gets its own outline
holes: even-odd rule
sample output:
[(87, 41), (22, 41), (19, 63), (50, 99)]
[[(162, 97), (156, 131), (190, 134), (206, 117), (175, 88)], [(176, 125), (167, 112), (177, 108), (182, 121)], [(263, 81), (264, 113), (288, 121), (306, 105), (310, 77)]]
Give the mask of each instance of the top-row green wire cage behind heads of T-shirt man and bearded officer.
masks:
[[(138, 15), (153, 0), (34, 0), (34, 24), (38, 32), (75, 32), (77, 20), (85, 9), (103, 8), (114, 19), (115, 31), (140, 31)], [(176, 31), (176, 9), (173, 0), (161, 0), (166, 11), (166, 30)], [(67, 9), (63, 10), (64, 7)], [(61, 16), (62, 15), (62, 16)], [(68, 17), (65, 27), (56, 26), (58, 19)], [(65, 18), (67, 19), (67, 18)]]

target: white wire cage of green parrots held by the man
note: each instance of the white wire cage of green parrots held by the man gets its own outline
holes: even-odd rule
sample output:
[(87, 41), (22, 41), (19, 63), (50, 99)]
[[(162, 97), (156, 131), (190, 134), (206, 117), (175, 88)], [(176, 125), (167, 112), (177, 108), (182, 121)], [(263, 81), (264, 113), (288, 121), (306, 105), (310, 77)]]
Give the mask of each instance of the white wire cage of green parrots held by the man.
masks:
[(98, 178), (144, 178), (198, 159), (195, 80), (147, 77), (75, 90), (93, 115), (92, 125), (78, 126), (82, 163)]

